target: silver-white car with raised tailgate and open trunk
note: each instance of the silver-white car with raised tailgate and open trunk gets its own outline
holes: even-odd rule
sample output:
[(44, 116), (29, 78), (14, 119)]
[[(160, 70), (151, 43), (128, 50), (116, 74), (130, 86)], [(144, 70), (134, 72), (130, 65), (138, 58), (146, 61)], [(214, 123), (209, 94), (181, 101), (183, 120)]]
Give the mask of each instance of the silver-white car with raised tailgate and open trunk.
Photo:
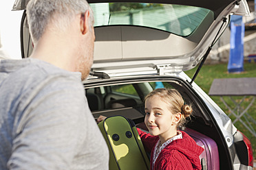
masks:
[[(245, 0), (89, 0), (95, 17), (94, 64), (83, 82), (97, 118), (122, 115), (144, 121), (143, 99), (158, 87), (175, 88), (193, 104), (191, 130), (217, 145), (218, 162), (204, 169), (253, 169), (250, 141), (194, 80), (231, 14), (249, 15)], [(28, 0), (17, 0), (24, 10)], [(25, 11), (21, 21), (23, 58), (32, 52)], [(198, 66), (193, 77), (183, 71)], [(214, 167), (215, 164), (215, 167)], [(214, 168), (213, 168), (214, 167)]]

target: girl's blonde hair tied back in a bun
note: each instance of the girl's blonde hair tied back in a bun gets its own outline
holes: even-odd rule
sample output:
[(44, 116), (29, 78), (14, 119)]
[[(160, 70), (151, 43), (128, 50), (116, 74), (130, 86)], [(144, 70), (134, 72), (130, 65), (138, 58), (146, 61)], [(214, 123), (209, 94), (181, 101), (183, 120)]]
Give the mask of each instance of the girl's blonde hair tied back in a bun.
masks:
[(184, 130), (186, 118), (191, 116), (193, 109), (191, 105), (184, 104), (184, 99), (182, 98), (178, 90), (171, 88), (157, 88), (151, 91), (151, 93), (149, 93), (145, 97), (145, 101), (146, 99), (149, 99), (153, 96), (158, 96), (167, 104), (169, 104), (169, 109), (173, 114), (176, 114), (178, 112), (182, 114), (182, 119), (180, 119), (180, 122), (177, 125), (177, 129)]

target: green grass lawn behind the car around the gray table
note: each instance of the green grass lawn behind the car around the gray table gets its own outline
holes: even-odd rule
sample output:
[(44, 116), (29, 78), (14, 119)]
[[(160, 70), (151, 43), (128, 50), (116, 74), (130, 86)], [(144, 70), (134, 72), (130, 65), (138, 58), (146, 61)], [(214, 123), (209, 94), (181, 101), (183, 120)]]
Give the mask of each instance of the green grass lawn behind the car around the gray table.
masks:
[[(185, 73), (189, 75), (189, 77), (192, 77), (193, 74), (195, 73), (195, 69), (186, 71)], [(211, 88), (211, 84), (213, 83), (214, 79), (236, 78), (236, 77), (256, 77), (256, 63), (244, 62), (244, 72), (242, 73), (228, 73), (227, 64), (204, 65), (202, 66), (202, 69), (199, 72), (198, 76), (195, 78), (195, 83), (198, 84), (198, 86), (200, 86), (205, 93), (209, 94), (209, 90)], [(256, 84), (255, 84), (255, 88), (256, 88)], [(215, 103), (218, 106), (220, 106), (220, 108), (222, 108), (222, 110), (224, 110), (224, 112), (226, 112), (226, 114), (230, 114), (230, 110), (228, 110), (228, 108), (224, 106), (224, 104), (220, 100), (220, 97), (211, 97), (211, 98), (213, 99), (213, 101), (215, 101)], [(233, 102), (229, 97), (223, 97), (223, 98), (228, 105), (232, 106)], [(242, 100), (242, 97), (233, 97), (233, 99), (235, 99), (236, 102), (239, 102)], [(252, 99), (251, 96), (246, 97), (246, 99), (244, 99), (244, 102), (242, 103), (242, 108), (246, 108), (246, 106), (248, 106), (251, 99)], [(253, 106), (251, 106), (250, 109), (248, 110), (248, 114), (250, 114), (250, 116), (256, 120), (256, 100), (254, 101)], [(235, 117), (231, 116), (231, 120), (234, 121)], [(254, 125), (253, 123), (250, 123), (250, 124), (253, 125), (253, 129), (256, 130), (256, 125)], [(256, 158), (256, 137), (253, 136), (246, 129), (246, 127), (244, 127), (244, 125), (239, 121), (235, 123), (235, 127), (237, 127), (239, 131), (243, 132), (249, 138), (253, 146), (253, 156), (254, 158)]]

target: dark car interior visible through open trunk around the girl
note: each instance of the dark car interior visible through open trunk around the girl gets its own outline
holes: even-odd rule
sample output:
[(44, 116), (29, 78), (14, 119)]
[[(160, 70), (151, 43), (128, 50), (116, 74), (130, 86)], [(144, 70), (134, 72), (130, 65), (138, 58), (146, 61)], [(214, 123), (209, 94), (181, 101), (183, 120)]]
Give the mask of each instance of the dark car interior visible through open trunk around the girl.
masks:
[(200, 104), (200, 100), (191, 95), (191, 91), (185, 88), (184, 84), (180, 84), (177, 81), (138, 82), (134, 84), (114, 84), (85, 88), (85, 92), (89, 108), (92, 110), (95, 119), (100, 115), (105, 117), (121, 115), (133, 120), (136, 127), (147, 131), (144, 123), (144, 97), (154, 88), (158, 88), (158, 84), (161, 85), (160, 87), (177, 89), (184, 98), (184, 102), (192, 104), (193, 116), (186, 124), (186, 130), (194, 130), (198, 134), (211, 138), (217, 146), (216, 150), (220, 156), (220, 167), (227, 168), (225, 164), (222, 164), (222, 160), (226, 158), (227, 152), (224, 149), (222, 137), (216, 133), (218, 132), (217, 126), (215, 126), (211, 117), (206, 114), (207, 111), (203, 111), (204, 106)]

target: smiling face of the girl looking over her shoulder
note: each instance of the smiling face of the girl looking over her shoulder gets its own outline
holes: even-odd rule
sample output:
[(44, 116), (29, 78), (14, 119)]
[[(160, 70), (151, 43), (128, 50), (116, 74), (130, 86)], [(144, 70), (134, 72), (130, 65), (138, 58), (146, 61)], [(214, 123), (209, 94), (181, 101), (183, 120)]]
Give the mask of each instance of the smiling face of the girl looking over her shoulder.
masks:
[(145, 124), (152, 136), (158, 135), (160, 139), (166, 141), (177, 134), (176, 126), (181, 114), (172, 113), (170, 106), (159, 96), (146, 99), (145, 113)]

